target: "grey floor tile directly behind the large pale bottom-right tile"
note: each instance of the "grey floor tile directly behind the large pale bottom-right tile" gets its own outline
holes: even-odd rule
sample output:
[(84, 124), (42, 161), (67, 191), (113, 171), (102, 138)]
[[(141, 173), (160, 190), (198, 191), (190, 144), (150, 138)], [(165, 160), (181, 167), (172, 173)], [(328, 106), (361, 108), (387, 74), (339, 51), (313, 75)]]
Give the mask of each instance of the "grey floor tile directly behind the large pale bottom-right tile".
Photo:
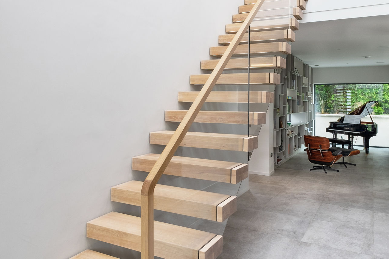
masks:
[(314, 219), (373, 229), (374, 214), (372, 210), (323, 203), (317, 210)]

